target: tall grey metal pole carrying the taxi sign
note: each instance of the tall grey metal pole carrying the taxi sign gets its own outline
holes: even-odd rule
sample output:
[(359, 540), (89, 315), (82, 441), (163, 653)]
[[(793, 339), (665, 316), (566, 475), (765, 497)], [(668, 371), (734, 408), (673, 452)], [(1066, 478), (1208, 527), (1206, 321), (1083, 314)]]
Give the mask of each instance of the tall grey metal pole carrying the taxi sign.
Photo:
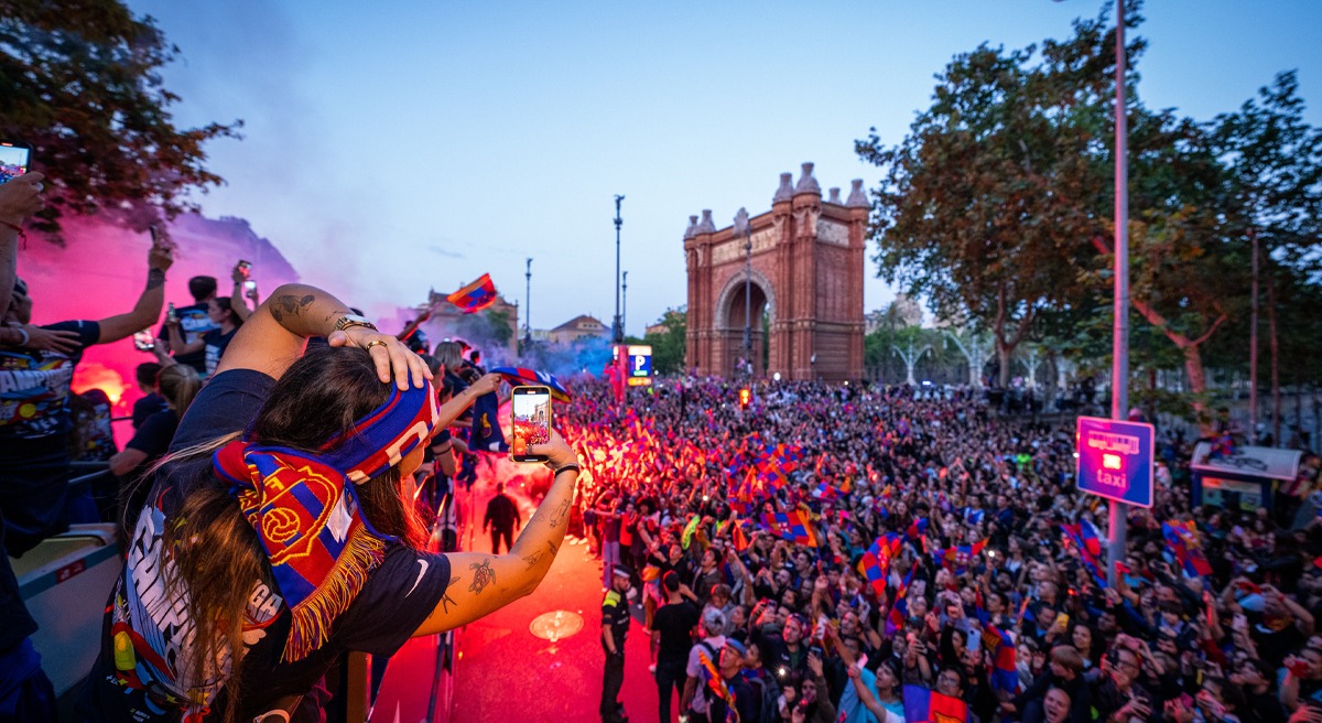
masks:
[[(1116, 299), (1110, 367), (1110, 418), (1124, 420), (1129, 411), (1129, 167), (1125, 116), (1125, 0), (1116, 3)], [(1109, 505), (1110, 550), (1107, 579), (1116, 584), (1116, 564), (1125, 558), (1129, 505)]]

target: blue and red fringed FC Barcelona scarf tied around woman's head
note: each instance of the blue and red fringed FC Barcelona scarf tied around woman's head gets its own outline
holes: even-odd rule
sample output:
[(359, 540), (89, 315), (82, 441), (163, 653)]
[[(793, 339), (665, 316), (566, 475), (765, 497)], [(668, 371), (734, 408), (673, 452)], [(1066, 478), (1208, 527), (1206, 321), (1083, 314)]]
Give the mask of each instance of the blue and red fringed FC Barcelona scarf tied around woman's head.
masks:
[(217, 476), (230, 482), (290, 605), (286, 662), (327, 642), (334, 619), (381, 564), (386, 543), (397, 539), (361, 514), (356, 486), (426, 443), (439, 415), (431, 383), (406, 391), (391, 385), (383, 404), (316, 452), (241, 439), (213, 455)]

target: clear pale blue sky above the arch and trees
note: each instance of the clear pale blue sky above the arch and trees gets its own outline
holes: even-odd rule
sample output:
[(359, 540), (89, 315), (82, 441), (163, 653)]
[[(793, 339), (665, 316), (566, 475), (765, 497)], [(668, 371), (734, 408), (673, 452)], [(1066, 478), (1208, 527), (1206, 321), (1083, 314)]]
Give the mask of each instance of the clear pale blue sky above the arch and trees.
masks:
[[(612, 197), (624, 201), (628, 330), (686, 300), (682, 234), (769, 208), (814, 161), (869, 186), (853, 141), (898, 143), (932, 75), (980, 42), (1066, 37), (1100, 0), (460, 3), (131, 0), (178, 62), (184, 124), (246, 122), (209, 147), (238, 215), (304, 275), (375, 312), (490, 272), (533, 325), (609, 323)], [(1322, 126), (1322, 1), (1150, 0), (1140, 93), (1198, 119), (1300, 70)], [(871, 250), (870, 250), (871, 252)], [(260, 271), (260, 270), (258, 270)], [(873, 278), (866, 308), (891, 289)], [(521, 320), (522, 321), (522, 320)]]

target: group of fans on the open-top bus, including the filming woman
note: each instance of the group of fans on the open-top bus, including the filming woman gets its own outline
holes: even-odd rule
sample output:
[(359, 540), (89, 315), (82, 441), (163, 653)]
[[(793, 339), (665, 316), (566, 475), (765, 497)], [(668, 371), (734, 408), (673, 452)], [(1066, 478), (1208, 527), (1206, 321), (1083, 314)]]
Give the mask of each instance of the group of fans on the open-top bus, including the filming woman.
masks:
[[(71, 519), (122, 525), (114, 588), (65, 601), (73, 617), (103, 616), (99, 641), (69, 642), (98, 652), (69, 691), (78, 720), (324, 720), (346, 653), (389, 658), (537, 588), (579, 471), (561, 435), (527, 447), (551, 484), (506, 554), (457, 551), (420, 514), (419, 480), (464, 476), (449, 430), (498, 430), (480, 416), (493, 410), (472, 408), (501, 385), (475, 356), (381, 332), (311, 285), (259, 304), (242, 262), (233, 295), (198, 276), (192, 304), (167, 307), (164, 238), (132, 309), (34, 324), (16, 262), (41, 181), (0, 184), (0, 720), (56, 720), (41, 656), (82, 657), (38, 653), (11, 564)], [(159, 334), (144, 332), (163, 317)], [(112, 342), (156, 358), (137, 369), (144, 395), (123, 449), (106, 394), (71, 389), (83, 350)], [(106, 494), (74, 494), (75, 460), (89, 459), (110, 467)]]

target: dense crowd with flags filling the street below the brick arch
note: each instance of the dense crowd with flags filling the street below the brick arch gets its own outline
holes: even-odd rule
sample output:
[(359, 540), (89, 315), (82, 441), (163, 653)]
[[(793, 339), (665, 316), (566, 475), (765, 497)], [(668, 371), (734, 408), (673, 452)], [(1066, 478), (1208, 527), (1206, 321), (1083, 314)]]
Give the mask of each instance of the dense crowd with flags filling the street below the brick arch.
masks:
[(661, 720), (1322, 719), (1322, 525), (1194, 509), (1173, 438), (1108, 586), (1072, 430), (972, 391), (576, 394), (586, 534), (642, 591)]

